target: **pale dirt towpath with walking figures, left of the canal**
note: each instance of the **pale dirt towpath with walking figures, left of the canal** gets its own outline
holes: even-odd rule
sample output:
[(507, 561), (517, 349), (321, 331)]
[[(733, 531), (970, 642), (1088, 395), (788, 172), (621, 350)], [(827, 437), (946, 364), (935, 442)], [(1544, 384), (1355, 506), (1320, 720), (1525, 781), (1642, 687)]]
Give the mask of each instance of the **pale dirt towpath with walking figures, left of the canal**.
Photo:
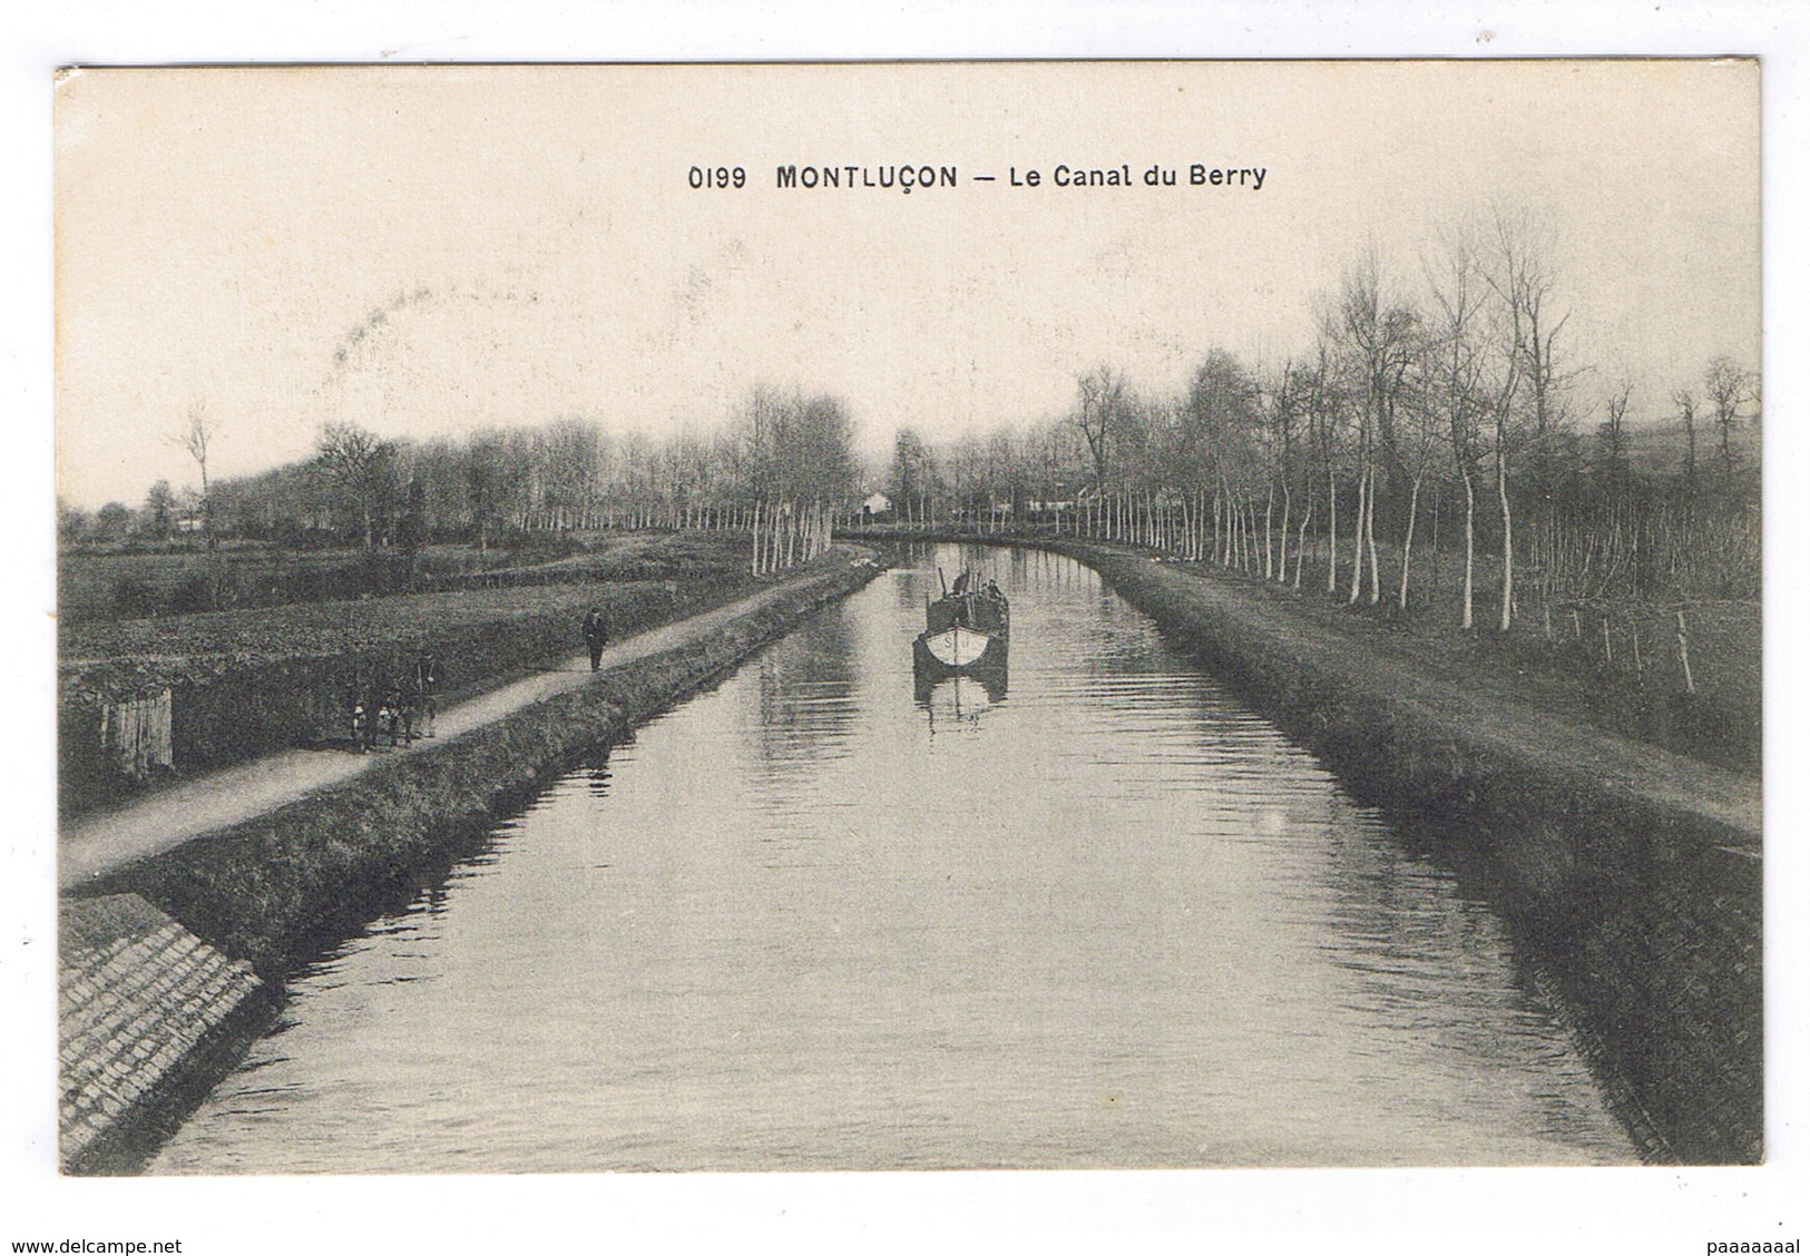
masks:
[[(624, 637), (603, 652), (603, 666), (615, 668), (699, 641), (729, 621), (758, 610), (787, 588), (791, 583), (775, 585), (690, 619)], [(275, 811), (315, 789), (338, 785), (391, 755), (418, 755), (592, 679), (590, 657), (581, 652), (523, 680), (442, 709), (434, 728), (436, 740), (384, 747), (369, 755), (344, 749), (282, 751), (206, 773), (118, 811), (80, 816), (63, 827), (58, 842), (58, 887), (78, 889), (205, 833)]]

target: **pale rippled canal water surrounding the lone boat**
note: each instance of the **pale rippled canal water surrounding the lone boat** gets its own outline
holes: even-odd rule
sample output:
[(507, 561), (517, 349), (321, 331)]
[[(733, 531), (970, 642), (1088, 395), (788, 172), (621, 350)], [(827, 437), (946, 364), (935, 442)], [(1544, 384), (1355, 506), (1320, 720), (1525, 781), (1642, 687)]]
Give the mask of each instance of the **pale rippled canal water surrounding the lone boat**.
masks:
[[(965, 561), (1008, 684), (925, 693)], [(1091, 570), (941, 547), (300, 972), (150, 1171), (1634, 1162), (1542, 988)]]

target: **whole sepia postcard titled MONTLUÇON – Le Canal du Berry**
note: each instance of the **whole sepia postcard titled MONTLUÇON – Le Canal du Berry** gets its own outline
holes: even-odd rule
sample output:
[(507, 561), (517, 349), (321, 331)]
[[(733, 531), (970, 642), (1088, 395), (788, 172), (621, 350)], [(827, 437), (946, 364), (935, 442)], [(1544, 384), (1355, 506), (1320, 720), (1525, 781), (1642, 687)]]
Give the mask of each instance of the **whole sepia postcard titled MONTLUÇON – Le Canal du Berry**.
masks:
[(1759, 105), (62, 71), (62, 1173), (1761, 1164)]

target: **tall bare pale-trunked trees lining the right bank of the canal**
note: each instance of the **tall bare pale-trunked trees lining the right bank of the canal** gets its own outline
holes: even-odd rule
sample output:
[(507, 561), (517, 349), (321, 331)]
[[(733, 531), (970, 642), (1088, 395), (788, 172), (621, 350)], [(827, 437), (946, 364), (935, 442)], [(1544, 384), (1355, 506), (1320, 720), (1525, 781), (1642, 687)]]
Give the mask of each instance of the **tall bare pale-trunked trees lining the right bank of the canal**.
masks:
[(1538, 221), (1497, 215), (1450, 232), (1412, 281), (1374, 253), (1358, 259), (1296, 358), (1249, 367), (1215, 349), (1178, 396), (1142, 395), (1100, 366), (1079, 376), (1062, 420), (970, 436), (941, 456), (900, 433), (894, 509), (907, 519), (1043, 509), (1294, 585), (1312, 552), (1325, 590), (1354, 604), (1383, 599), (1386, 557), (1388, 595), (1406, 610), (1426, 507), (1437, 519), (1444, 505), (1459, 516), (1464, 628), (1482, 547), (1502, 630), (1522, 570), (1542, 601), (1758, 595), (1758, 476), (1739, 436), (1758, 420), (1758, 380), (1712, 360), (1703, 402), (1672, 395), (1678, 458), (1636, 471), (1633, 382), (1604, 385), (1575, 357), (1555, 252)]

